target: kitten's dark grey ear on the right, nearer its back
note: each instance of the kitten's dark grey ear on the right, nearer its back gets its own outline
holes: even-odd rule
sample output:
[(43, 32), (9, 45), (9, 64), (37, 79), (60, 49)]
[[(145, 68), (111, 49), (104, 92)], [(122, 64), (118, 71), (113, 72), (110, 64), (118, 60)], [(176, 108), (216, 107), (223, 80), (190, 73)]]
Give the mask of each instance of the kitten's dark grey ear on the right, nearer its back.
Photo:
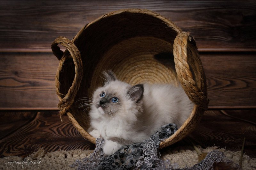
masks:
[(143, 92), (144, 92), (144, 86), (142, 84), (134, 85), (132, 86), (127, 94), (130, 97), (130, 99), (136, 101), (138, 103), (140, 99), (143, 97)]

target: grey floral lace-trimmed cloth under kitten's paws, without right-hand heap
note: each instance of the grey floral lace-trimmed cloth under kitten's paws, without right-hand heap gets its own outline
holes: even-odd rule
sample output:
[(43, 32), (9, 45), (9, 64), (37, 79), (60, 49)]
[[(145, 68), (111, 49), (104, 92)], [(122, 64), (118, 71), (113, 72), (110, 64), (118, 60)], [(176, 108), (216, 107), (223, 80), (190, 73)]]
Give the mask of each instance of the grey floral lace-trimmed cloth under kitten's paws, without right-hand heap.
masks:
[(159, 159), (159, 144), (164, 139), (170, 137), (178, 130), (176, 124), (170, 123), (161, 127), (159, 132), (149, 137), (147, 140), (121, 147), (111, 156), (104, 157), (102, 151), (103, 139), (96, 139), (96, 148), (90, 157), (77, 159), (70, 165), (71, 168), (77, 166), (77, 170), (82, 169), (151, 169), (164, 168), (164, 161)]

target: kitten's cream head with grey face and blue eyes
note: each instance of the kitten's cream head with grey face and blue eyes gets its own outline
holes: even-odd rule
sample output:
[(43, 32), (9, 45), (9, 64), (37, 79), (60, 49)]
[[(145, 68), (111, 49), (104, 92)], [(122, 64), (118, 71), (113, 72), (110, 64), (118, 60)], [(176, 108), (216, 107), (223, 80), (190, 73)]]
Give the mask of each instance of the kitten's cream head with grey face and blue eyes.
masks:
[(119, 81), (111, 70), (104, 71), (103, 76), (104, 86), (93, 94), (94, 117), (127, 117), (128, 114), (136, 115), (141, 111), (144, 92), (142, 84), (131, 86)]

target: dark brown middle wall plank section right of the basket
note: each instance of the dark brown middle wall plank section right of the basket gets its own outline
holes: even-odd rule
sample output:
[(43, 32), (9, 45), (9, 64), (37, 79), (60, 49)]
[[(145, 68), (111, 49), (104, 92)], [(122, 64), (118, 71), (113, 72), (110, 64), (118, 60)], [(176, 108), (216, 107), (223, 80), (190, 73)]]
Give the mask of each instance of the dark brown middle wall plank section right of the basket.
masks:
[(200, 53), (210, 108), (256, 108), (256, 53)]

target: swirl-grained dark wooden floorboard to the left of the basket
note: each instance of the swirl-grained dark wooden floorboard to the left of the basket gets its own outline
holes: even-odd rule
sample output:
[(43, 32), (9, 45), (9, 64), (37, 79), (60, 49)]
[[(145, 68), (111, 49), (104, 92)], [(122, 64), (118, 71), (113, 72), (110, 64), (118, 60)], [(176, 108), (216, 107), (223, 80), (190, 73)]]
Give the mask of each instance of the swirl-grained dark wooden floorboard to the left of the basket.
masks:
[[(4, 114), (0, 112), (0, 114)], [(13, 113), (8, 113), (13, 114)], [(20, 121), (24, 119), (24, 113), (20, 113)], [(17, 116), (17, 114), (16, 114)], [(26, 157), (39, 147), (46, 152), (71, 149), (94, 149), (93, 144), (85, 140), (76, 128), (68, 120), (67, 116), (60, 121), (58, 112), (38, 112), (34, 119), (16, 129), (12, 134), (0, 140), (0, 157), (22, 156)], [(3, 116), (4, 124), (0, 127), (13, 130), (15, 122)], [(0, 129), (1, 129), (0, 128)]]

